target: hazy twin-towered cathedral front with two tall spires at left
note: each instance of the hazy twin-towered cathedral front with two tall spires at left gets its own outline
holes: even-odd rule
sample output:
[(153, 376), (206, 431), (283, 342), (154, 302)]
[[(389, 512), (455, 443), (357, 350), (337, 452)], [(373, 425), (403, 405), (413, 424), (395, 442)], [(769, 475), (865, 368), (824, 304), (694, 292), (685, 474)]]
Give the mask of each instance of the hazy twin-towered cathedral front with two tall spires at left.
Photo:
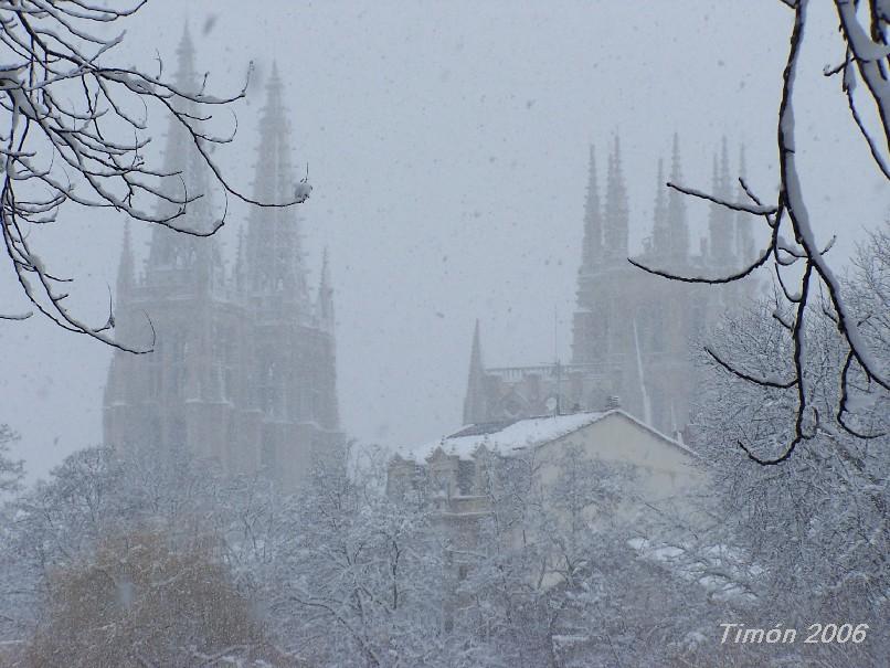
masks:
[[(177, 86), (199, 89), (188, 34), (178, 55)], [(293, 199), (298, 181), (282, 98), (274, 71), (253, 181), (253, 199), (262, 202)], [(190, 112), (188, 105), (182, 110)], [(176, 121), (167, 135), (165, 171), (180, 173), (187, 193), (202, 193), (177, 225), (212, 230), (206, 166)], [(161, 201), (158, 213), (171, 211), (176, 206)], [(293, 206), (252, 208), (232, 267), (216, 235), (155, 225), (138, 275), (125, 231), (116, 332), (118, 340), (151, 352), (115, 352), (105, 388), (106, 445), (125, 456), (135, 448), (158, 457), (188, 452), (226, 474), (264, 473), (293, 489), (315, 456), (343, 443), (327, 256), (312, 290), (299, 224)]]

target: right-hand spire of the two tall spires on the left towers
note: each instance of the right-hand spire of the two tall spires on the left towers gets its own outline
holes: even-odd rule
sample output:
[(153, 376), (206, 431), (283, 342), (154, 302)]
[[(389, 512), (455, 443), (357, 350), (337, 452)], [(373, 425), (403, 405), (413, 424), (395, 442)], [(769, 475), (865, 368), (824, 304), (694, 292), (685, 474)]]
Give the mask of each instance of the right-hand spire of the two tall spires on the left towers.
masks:
[[(261, 202), (293, 201), (297, 179), (290, 161), (290, 127), (276, 65), (266, 85), (259, 127), (253, 197)], [(275, 296), (280, 303), (306, 309), (309, 300), (301, 245), (296, 206), (254, 206), (245, 238), (247, 291)]]

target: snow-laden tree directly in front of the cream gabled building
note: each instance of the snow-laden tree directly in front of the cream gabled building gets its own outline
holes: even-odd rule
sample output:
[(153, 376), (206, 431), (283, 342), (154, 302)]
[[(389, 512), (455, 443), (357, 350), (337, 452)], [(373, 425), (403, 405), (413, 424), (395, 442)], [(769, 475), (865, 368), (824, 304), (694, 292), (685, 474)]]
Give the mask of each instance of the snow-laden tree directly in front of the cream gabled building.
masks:
[(467, 564), (454, 635), (468, 665), (668, 665), (692, 629), (710, 632), (719, 608), (698, 579), (639, 548), (682, 530), (637, 498), (633, 468), (568, 444), (552, 460), (491, 454), (485, 470), (490, 511), (470, 547), (452, 545)]

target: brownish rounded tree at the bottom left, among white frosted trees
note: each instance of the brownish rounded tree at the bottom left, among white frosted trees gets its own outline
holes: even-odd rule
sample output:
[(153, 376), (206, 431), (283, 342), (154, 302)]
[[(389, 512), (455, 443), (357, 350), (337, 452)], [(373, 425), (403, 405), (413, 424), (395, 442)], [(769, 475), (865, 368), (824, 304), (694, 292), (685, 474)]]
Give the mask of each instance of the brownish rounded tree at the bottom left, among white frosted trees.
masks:
[(268, 666), (259, 659), (277, 654), (200, 542), (173, 547), (158, 531), (106, 537), (86, 560), (54, 571), (47, 589), (27, 666)]

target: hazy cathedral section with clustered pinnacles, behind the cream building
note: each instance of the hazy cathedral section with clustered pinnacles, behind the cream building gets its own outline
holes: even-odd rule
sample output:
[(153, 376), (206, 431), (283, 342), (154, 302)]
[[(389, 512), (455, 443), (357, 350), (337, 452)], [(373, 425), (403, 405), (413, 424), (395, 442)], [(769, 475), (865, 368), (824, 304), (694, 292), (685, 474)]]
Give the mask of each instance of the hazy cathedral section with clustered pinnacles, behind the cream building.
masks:
[[(740, 170), (744, 172), (743, 155)], [(682, 183), (676, 137), (670, 180)], [(724, 141), (714, 158), (712, 192), (723, 200), (743, 200), (737, 190)], [(477, 322), (464, 424), (621, 406), (664, 434), (685, 436), (695, 386), (692, 346), (714, 318), (750, 297), (751, 286), (678, 283), (627, 261), (632, 216), (617, 139), (608, 155), (604, 195), (603, 202), (591, 148), (571, 362), (487, 368)], [(753, 261), (750, 214), (711, 204), (707, 235), (693, 250), (686, 204), (687, 195), (665, 188), (659, 162), (650, 234), (635, 261), (703, 277), (723, 276)]]

